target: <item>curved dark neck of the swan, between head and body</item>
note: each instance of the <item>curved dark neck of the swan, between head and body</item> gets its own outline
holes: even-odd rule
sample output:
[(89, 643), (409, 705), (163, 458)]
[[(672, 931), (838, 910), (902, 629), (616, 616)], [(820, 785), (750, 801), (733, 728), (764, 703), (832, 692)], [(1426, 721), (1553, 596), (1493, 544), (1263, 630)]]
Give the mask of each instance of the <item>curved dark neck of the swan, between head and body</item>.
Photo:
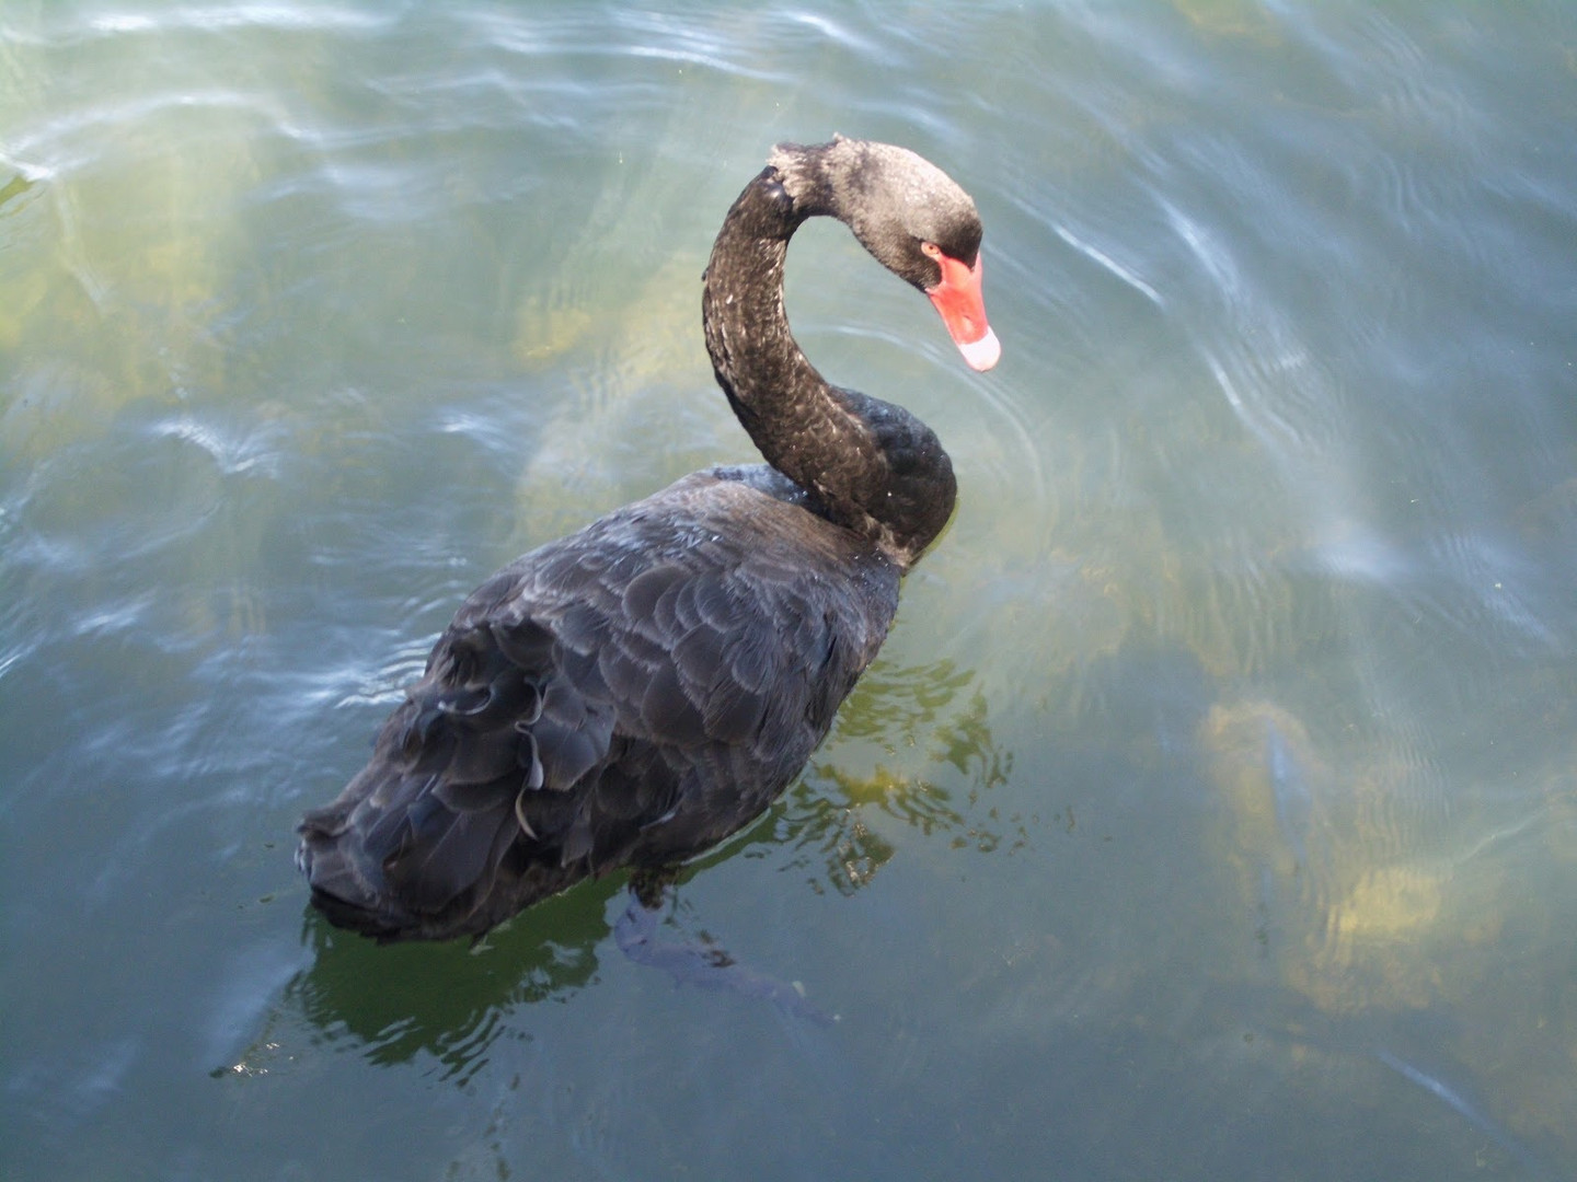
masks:
[(706, 351), (766, 462), (809, 492), (822, 515), (908, 569), (953, 515), (953, 463), (924, 422), (828, 385), (795, 342), (784, 258), (793, 232), (822, 213), (844, 221), (825, 186), (795, 200), (774, 167), (744, 188), (706, 265)]

